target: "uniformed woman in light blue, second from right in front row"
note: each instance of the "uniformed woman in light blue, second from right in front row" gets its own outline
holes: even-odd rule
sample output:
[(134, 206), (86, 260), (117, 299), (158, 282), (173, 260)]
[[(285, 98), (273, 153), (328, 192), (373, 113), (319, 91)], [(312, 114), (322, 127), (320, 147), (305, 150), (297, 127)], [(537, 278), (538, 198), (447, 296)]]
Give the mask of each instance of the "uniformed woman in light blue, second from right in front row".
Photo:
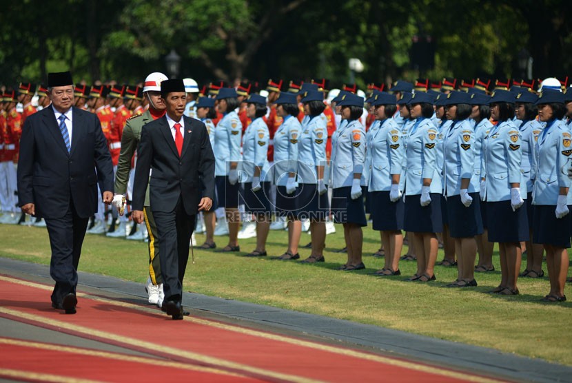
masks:
[[(522, 183), (520, 163), (522, 143), (513, 124), (515, 94), (493, 92), (489, 100), (491, 118), (497, 125), (483, 143), (484, 167), (481, 172), (482, 200), (486, 203), (489, 241), (498, 242), (501, 280), (492, 293), (516, 295), (522, 250), (520, 242), (529, 239), (526, 183)], [(522, 190), (522, 195), (521, 195)]]

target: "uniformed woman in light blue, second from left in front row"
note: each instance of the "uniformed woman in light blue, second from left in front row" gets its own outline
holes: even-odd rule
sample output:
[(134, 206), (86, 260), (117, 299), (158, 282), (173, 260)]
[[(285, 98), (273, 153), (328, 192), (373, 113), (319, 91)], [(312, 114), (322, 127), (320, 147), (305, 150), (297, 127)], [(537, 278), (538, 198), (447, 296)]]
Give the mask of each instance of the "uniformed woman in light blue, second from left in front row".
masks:
[(218, 112), (223, 118), (214, 130), (214, 176), (218, 203), (225, 208), (228, 220), (228, 245), (219, 252), (241, 251), (238, 246), (238, 161), (241, 161), (241, 133), (243, 125), (235, 110), (238, 107), (234, 88), (221, 87), (216, 95)]

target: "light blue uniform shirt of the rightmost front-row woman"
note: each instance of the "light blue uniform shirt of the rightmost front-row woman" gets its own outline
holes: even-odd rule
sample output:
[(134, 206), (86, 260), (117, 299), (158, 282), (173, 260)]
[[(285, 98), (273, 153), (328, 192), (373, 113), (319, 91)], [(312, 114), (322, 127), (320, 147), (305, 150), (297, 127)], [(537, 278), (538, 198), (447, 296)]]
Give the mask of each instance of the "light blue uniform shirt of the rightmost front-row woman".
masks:
[[(568, 168), (572, 158), (572, 136), (562, 121), (550, 121), (536, 143), (538, 172), (532, 188), (533, 205), (553, 205), (560, 187), (570, 187)], [(568, 205), (572, 205), (570, 193)]]

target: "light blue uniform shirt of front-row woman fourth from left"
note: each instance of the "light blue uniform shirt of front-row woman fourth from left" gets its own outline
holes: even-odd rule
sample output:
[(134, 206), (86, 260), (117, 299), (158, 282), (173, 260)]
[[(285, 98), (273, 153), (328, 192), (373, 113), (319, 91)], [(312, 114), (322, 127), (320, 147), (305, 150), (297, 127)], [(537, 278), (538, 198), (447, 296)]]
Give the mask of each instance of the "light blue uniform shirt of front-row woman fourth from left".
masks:
[(296, 116), (285, 116), (282, 125), (274, 133), (274, 165), (272, 180), (274, 185), (286, 186), (289, 173), (298, 170), (298, 140), (302, 126)]

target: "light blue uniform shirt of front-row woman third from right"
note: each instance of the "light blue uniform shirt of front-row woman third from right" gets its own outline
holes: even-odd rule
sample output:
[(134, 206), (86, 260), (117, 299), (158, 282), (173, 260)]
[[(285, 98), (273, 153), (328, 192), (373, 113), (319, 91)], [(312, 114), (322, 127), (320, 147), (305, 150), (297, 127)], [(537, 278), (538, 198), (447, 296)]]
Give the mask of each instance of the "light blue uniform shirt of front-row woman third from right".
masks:
[[(445, 174), (445, 189), (443, 194), (447, 197), (458, 196), (461, 190), (461, 178), (473, 176), (475, 169), (475, 147), (474, 147), (473, 124), (468, 120), (453, 121), (443, 143), (445, 161), (443, 163), (443, 174)], [(476, 189), (469, 182), (469, 193), (474, 193)]]

